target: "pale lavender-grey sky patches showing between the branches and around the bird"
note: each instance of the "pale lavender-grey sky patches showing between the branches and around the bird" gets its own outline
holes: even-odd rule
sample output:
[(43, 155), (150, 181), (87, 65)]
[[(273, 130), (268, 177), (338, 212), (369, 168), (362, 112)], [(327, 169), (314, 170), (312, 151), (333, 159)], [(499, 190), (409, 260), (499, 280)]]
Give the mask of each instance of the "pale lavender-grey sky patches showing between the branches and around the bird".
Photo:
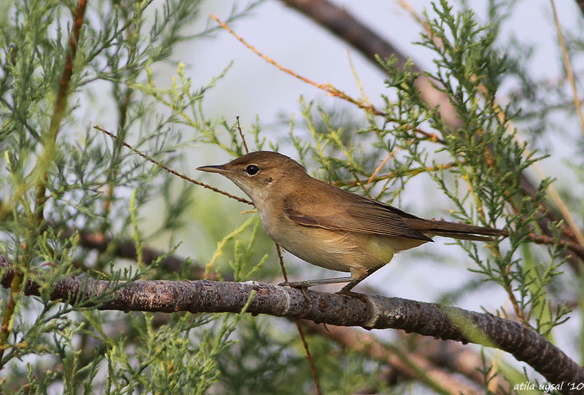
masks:
[[(403, 53), (412, 56), (414, 63), (423, 69), (432, 67), (429, 51), (423, 47), (412, 45), (412, 42), (419, 39), (420, 26), (397, 1), (366, 0), (336, 1), (335, 3), (344, 5), (373, 30), (389, 38), (392, 43), (397, 43)], [(473, 0), (469, 3), (476, 4), (475, 12), (480, 20), (485, 22), (484, 3), (486, 1)], [(225, 21), (232, 4), (232, 1), (207, 1), (201, 12), (201, 21), (207, 21), (209, 14), (216, 14), (219, 19)], [(409, 5), (418, 14), (421, 14), (425, 8), (428, 8), (431, 14), (429, 1), (412, 0), (409, 1)], [(238, 7), (241, 8), (241, 5)], [(557, 1), (557, 8), (559, 19), (565, 30), (572, 29), (576, 23), (581, 21), (580, 11), (576, 8), (574, 1)], [(541, 78), (558, 78), (562, 70), (557, 34), (551, 21), (552, 11), (548, 0), (523, 0), (519, 1), (506, 28), (508, 34), (513, 33), (522, 41), (537, 45), (537, 51), (532, 60), (532, 69), (535, 75)], [(210, 23), (214, 24), (215, 22), (210, 21)], [(203, 24), (203, 22), (199, 22), (194, 25), (194, 32), (200, 31)], [(332, 34), (306, 19), (305, 16), (287, 8), (279, 1), (265, 1), (251, 15), (238, 19), (230, 26), (248, 43), (276, 60), (280, 65), (315, 82), (331, 83), (349, 95), (359, 98), (361, 93), (348, 60), (347, 51), (350, 51), (355, 71), (371, 102), (381, 106), (379, 95), (388, 93), (383, 84), (385, 76), (377, 67), (363, 59), (346, 43), (339, 41)], [(233, 61), (234, 65), (227, 72), (227, 76), (206, 94), (204, 107), (207, 109), (207, 115), (225, 117), (227, 120), (234, 120), (234, 117), (239, 115), (244, 129), (254, 124), (257, 116), (265, 131), (265, 137), (269, 137), (269, 133), (278, 132), (276, 140), (284, 138), (284, 133), (288, 128), (286, 125), (278, 123), (280, 115), (290, 117), (295, 114), (298, 120), (297, 124), (300, 125), (300, 106), (298, 104), (300, 96), (303, 96), (307, 102), (315, 100), (319, 104), (324, 103), (328, 106), (339, 104), (339, 99), (327, 98), (323, 91), (319, 91), (265, 62), (223, 30), (218, 32), (213, 39), (197, 41), (194, 45), (192, 43), (182, 44), (175, 52), (174, 58), (189, 66), (188, 74), (193, 80), (194, 87), (205, 84), (212, 76), (218, 74), (218, 71)], [(164, 81), (165, 78), (168, 79), (172, 75), (175, 75), (175, 69), (169, 68), (168, 75), (159, 76), (159, 78)], [(509, 88), (513, 89), (513, 87)], [(502, 100), (504, 100), (504, 95), (502, 95)], [(341, 104), (344, 105), (344, 103)], [(579, 131), (577, 132), (579, 133)], [(293, 153), (290, 150), (284, 150), (284, 152)], [(210, 159), (214, 163), (209, 163)], [(227, 159), (227, 157), (210, 156), (208, 152), (201, 153), (201, 151), (194, 150), (190, 162), (194, 168), (194, 166), (203, 164), (223, 163)], [(557, 167), (561, 161), (555, 160), (556, 163), (554, 161), (545, 162), (549, 166), (546, 170), (551, 173), (550, 175), (553, 175), (555, 171), (564, 171)], [(311, 172), (316, 169), (308, 170)], [(227, 185), (227, 183), (219, 181), (216, 176), (202, 176), (194, 171), (191, 171), (190, 175), (203, 179), (212, 185)], [(423, 188), (419, 185), (418, 187)], [(227, 186), (227, 188), (229, 188), (229, 192), (243, 196), (243, 192), (240, 192), (236, 187)], [(413, 214), (424, 216), (424, 211), (431, 199), (419, 201), (420, 190), (414, 190), (415, 183), (408, 184), (407, 189), (410, 188), (412, 190), (407, 191), (404, 196), (418, 199), (411, 206), (420, 211), (413, 212)], [(422, 193), (427, 193), (427, 190), (423, 190)], [(226, 198), (213, 196), (213, 199)], [(240, 207), (239, 210), (247, 210), (247, 207)], [(238, 215), (236, 211), (233, 214), (234, 216)], [(445, 213), (445, 218), (449, 218), (447, 213)], [(471, 267), (473, 262), (459, 247), (445, 246), (443, 240), (420, 247), (420, 249), (425, 249), (423, 251), (426, 252), (440, 251), (440, 254), (443, 253), (447, 257), (445, 259), (458, 260), (458, 264), (436, 264), (429, 258), (420, 258), (418, 253), (405, 251), (398, 254), (391, 264), (381, 269), (373, 278), (368, 279), (368, 284), (385, 290), (385, 295), (432, 301), (441, 290), (456, 288), (462, 280), (473, 278), (475, 274), (461, 269), (460, 261), (468, 261), (468, 267)], [(187, 241), (179, 251), (191, 255), (188, 253), (189, 245), (190, 243)], [(192, 253), (192, 256), (196, 256), (196, 254)], [(292, 261), (293, 257), (288, 254), (287, 260)], [(276, 264), (272, 261), (273, 258), (267, 264)], [(307, 265), (306, 263), (300, 264)], [(316, 271), (306, 269), (306, 271), (312, 275), (317, 273), (316, 277), (333, 277), (338, 274), (318, 269)], [(314, 278), (308, 274), (307, 276)], [(458, 306), (472, 310), (480, 310), (480, 306), (488, 309), (499, 306), (510, 308), (504, 293), (498, 288), (491, 293), (480, 292), (471, 295)], [(572, 321), (577, 321), (577, 319)], [(576, 328), (573, 329), (576, 330)], [(559, 344), (559, 346), (565, 345)], [(567, 351), (570, 348), (572, 347), (563, 347)], [(570, 354), (569, 351), (568, 354)]]

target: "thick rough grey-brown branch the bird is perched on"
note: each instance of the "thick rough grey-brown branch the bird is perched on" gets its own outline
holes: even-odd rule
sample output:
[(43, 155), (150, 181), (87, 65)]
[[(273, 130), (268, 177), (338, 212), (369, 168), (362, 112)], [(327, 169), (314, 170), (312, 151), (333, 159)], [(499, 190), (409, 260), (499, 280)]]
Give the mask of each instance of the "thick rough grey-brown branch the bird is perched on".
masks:
[[(5, 269), (1, 284), (9, 286), (13, 275), (12, 269)], [(473, 341), (513, 354), (550, 383), (565, 382), (563, 394), (579, 393), (571, 391), (568, 382), (584, 383), (584, 368), (535, 330), (486, 313), (398, 297), (363, 296), (360, 299), (306, 291), (305, 298), (298, 289), (258, 282), (136, 281), (112, 292), (113, 286), (115, 284), (104, 280), (67, 277), (54, 283), (49, 297), (100, 310), (239, 313), (254, 293), (247, 308), (247, 313), (254, 315), (304, 318), (315, 323), (366, 329), (394, 328), (440, 339)], [(41, 284), (29, 279), (25, 293), (39, 295), (40, 288)], [(452, 317), (456, 317), (458, 324), (453, 324)], [(464, 335), (473, 330), (481, 336), (469, 339)]]

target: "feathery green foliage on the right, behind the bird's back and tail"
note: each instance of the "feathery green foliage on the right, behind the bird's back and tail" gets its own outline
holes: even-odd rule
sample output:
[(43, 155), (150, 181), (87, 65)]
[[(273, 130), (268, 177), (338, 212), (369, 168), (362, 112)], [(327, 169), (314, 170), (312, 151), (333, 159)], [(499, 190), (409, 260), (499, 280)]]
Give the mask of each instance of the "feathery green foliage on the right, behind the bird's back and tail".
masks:
[[(471, 271), (508, 294), (513, 315), (552, 340), (552, 329), (568, 320), (570, 313), (561, 298), (558, 301), (548, 293), (554, 284), (561, 286), (565, 281), (561, 279), (567, 260), (561, 245), (563, 224), (552, 221), (549, 229), (541, 229), (538, 223), (544, 216), (541, 207), (551, 179), (536, 185), (533, 196), (523, 186), (522, 177), (545, 156), (530, 152), (510, 126), (518, 111), (501, 107), (496, 100), (508, 67), (506, 56), (499, 56), (494, 47), (497, 21), (482, 26), (473, 12), (456, 14), (447, 1), (434, 4), (433, 11), (436, 17), (428, 19), (429, 34), (418, 44), (435, 55), (435, 71), (422, 74), (411, 61), (398, 68), (395, 58), (378, 59), (396, 97), (384, 98), (383, 123), (368, 117), (367, 126), (341, 138), (341, 128), (330, 126), (325, 110), (316, 113), (312, 104), (302, 102), (314, 143), (295, 139), (295, 147), (300, 157), (310, 152), (323, 169), (319, 176), (337, 185), (393, 201), (407, 181), (425, 174), (447, 198), (455, 218), (513, 229), (503, 242), (489, 243), (488, 254), (476, 243), (458, 244), (475, 262)], [(417, 82), (422, 77), (447, 95), (458, 125), (446, 124), (440, 110), (421, 97)], [(317, 128), (318, 122), (322, 126)], [(390, 159), (391, 171), (373, 172), (374, 163), (384, 158)], [(534, 229), (552, 234), (547, 249), (526, 244)], [(469, 284), (467, 292), (475, 285)], [(508, 315), (503, 308), (498, 313)]]

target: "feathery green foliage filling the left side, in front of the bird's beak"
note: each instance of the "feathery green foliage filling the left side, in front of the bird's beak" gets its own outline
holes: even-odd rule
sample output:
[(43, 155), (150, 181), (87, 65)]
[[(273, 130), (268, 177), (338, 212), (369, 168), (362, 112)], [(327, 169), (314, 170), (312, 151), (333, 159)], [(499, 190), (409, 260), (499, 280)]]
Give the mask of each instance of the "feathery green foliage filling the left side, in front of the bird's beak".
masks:
[[(178, 88), (156, 87), (155, 69), (170, 60), (177, 43), (205, 38), (212, 30), (185, 33), (199, 1), (90, 3), (67, 80), (63, 70), (76, 7), (14, 3), (9, 11), (14, 20), (5, 20), (0, 30), (2, 253), (24, 280), (41, 284), (36, 298), (25, 297), (22, 289), (2, 291), (1, 314), (10, 327), (3, 339), (1, 390), (203, 394), (217, 381), (216, 355), (231, 346), (227, 338), (239, 316), (166, 316), (171, 322), (161, 324), (154, 315), (100, 313), (85, 306), (109, 300), (135, 280), (159, 277), (164, 256), (144, 267), (142, 247), (160, 236), (172, 240), (186, 224), (192, 187), (177, 189), (176, 180), (160, 177), (160, 169), (124, 148), (122, 139), (168, 166), (178, 163), (179, 150), (190, 143), (176, 127), (183, 108), (160, 107), (159, 98), (177, 94)], [(238, 16), (234, 10), (231, 19)], [(188, 104), (201, 102), (215, 82), (201, 87)], [(190, 85), (183, 88), (190, 93)], [(91, 102), (104, 98), (107, 104), (98, 112), (114, 116), (100, 124), (115, 130), (118, 139), (91, 129)], [(51, 144), (50, 135), (58, 144)], [(47, 190), (47, 205), (38, 199), (39, 188)], [(144, 237), (144, 207), (153, 203), (164, 207), (165, 215)], [(108, 236), (104, 251), (96, 255), (80, 242), (88, 232)], [(138, 255), (129, 266), (115, 258), (117, 245), (128, 240), (135, 242)], [(168, 253), (174, 251), (170, 245)], [(236, 247), (241, 275), (252, 251), (253, 240)], [(109, 280), (111, 287), (82, 303), (49, 300), (54, 282), (80, 274)]]

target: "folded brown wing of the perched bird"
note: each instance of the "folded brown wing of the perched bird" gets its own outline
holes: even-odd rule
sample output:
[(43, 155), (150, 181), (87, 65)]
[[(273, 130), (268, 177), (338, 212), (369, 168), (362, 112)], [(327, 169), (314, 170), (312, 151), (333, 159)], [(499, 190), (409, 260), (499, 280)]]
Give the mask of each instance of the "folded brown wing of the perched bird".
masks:
[(316, 202), (301, 206), (291, 204), (291, 201), (284, 201), (284, 212), (291, 221), (305, 226), (432, 240), (403, 221), (403, 218), (420, 220), (421, 218), (380, 201), (346, 191), (342, 192), (336, 194), (339, 199), (328, 202), (326, 210), (323, 210), (322, 204), (314, 204)]

